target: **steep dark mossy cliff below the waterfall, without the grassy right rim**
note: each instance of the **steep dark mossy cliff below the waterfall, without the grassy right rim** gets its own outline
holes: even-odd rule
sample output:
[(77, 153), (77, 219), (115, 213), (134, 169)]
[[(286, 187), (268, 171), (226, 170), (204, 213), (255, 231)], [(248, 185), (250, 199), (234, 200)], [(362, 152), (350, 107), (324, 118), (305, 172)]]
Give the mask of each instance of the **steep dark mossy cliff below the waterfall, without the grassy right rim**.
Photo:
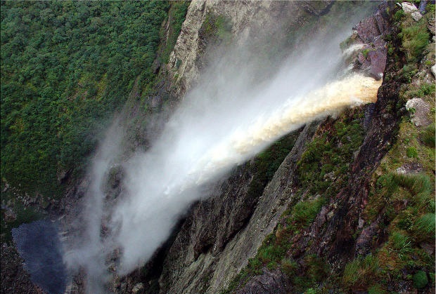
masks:
[[(377, 282), (373, 280), (371, 275), (374, 272), (371, 270), (361, 274), (363, 281), (357, 278), (352, 283), (347, 281), (347, 273), (342, 272), (348, 260), (358, 257), (354, 262), (357, 265), (361, 260), (359, 256), (371, 258), (368, 253), (376, 254), (377, 246), (383, 247), (387, 235), (392, 236), (395, 231), (380, 230), (379, 223), (385, 219), (383, 211), (375, 219), (366, 219), (368, 199), (377, 194), (374, 183), (375, 178), (380, 177), (380, 172), (376, 171), (380, 161), (386, 158), (387, 152), (397, 142), (399, 123), (405, 115), (402, 104), (404, 98), (399, 93), (404, 78), (396, 76), (397, 70), (406, 62), (402, 51), (399, 51), (399, 48), (404, 48), (404, 42), (401, 44), (398, 39), (399, 23), (395, 23), (388, 31), (388, 23), (395, 21), (392, 20), (395, 8), (391, 5), (381, 9), (378, 15), (364, 22), (359, 36), (367, 42), (372, 42), (375, 38), (390, 41), (387, 44), (390, 55), (385, 71), (385, 76), (389, 76), (389, 79), (383, 81), (377, 102), (349, 112), (338, 120), (321, 123), (313, 139), (314, 130), (305, 128), (262, 196), (255, 201), (250, 199), (250, 205), (241, 202), (241, 197), (246, 197), (245, 190), (250, 189), (247, 180), (230, 180), (231, 187), (225, 192), (195, 205), (192, 215), (185, 221), (169, 249), (160, 277), (162, 293), (191, 293), (200, 289), (202, 292), (216, 293), (228, 286), (231, 290), (241, 288), (238, 293), (302, 292), (311, 286), (316, 288), (319, 284), (337, 290), (338, 287), (344, 287), (342, 290), (386, 287), (379, 286), (380, 279), (376, 279)], [(428, 21), (434, 22), (431, 19)], [(382, 33), (385, 35), (380, 36)], [(356, 67), (364, 69), (371, 62), (377, 62), (380, 58), (378, 55), (387, 53), (383, 43), (379, 48), (381, 51), (374, 46), (360, 51)], [(431, 51), (431, 46), (429, 48)], [(429, 72), (434, 60), (427, 63), (423, 70)], [(378, 70), (381, 68), (383, 72), (384, 64), (380, 67), (379, 63), (378, 66)], [(371, 71), (372, 69), (368, 73), (378, 75)], [(431, 88), (433, 76), (426, 74), (426, 79), (430, 85), (423, 88)], [(421, 95), (429, 95), (432, 91), (434, 90), (428, 90)], [(429, 111), (430, 108), (427, 112)], [(297, 134), (298, 132), (295, 136)], [(309, 141), (312, 142), (304, 149), (304, 142)], [(425, 154), (421, 156), (427, 158)], [(245, 168), (250, 168), (250, 165)], [(431, 171), (431, 168), (427, 170), (430, 175)], [(247, 177), (238, 171), (231, 179), (236, 176), (241, 179)], [(233, 192), (231, 201), (244, 203), (241, 211), (238, 211), (241, 208), (238, 204), (232, 206), (231, 210), (228, 208), (231, 194), (227, 191), (232, 190), (238, 192)], [(434, 195), (433, 190), (430, 192), (432, 194)], [(288, 211), (282, 215), (286, 208)], [(248, 223), (241, 223), (240, 216)], [(415, 218), (416, 221), (417, 219)], [(241, 224), (241, 230), (234, 224)], [(274, 234), (264, 240), (264, 236), (274, 227)], [(231, 229), (234, 231), (229, 234)], [(429, 252), (434, 256), (434, 249)], [(249, 260), (252, 257), (255, 258)], [(248, 267), (231, 281), (247, 262)], [(416, 266), (407, 270), (414, 273), (418, 268)], [(426, 264), (425, 268), (431, 275), (431, 264)], [(395, 267), (389, 267), (387, 272), (396, 270)], [(323, 281), (323, 276), (327, 274), (332, 274), (333, 278)], [(341, 279), (342, 283), (335, 285), (334, 281)], [(387, 288), (392, 287), (411, 287), (411, 281), (409, 279), (406, 284), (401, 281), (388, 283)]]

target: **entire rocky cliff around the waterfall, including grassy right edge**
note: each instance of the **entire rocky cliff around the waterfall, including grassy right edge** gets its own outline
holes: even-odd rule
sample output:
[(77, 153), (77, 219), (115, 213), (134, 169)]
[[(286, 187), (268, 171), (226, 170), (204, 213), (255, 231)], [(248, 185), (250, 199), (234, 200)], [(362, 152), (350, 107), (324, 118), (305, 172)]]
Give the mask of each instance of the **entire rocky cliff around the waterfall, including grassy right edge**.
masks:
[[(420, 13), (410, 5), (383, 4), (361, 20), (352, 3), (192, 1), (167, 64), (155, 62), (153, 95), (139, 102), (134, 87), (124, 108), (122, 124), (134, 126), (124, 156), (148, 148), (230, 44), (262, 54), (267, 75), (314, 32), (328, 31), (326, 23), (356, 24), (341, 44), (343, 67), (383, 83), (375, 103), (303, 126), (210, 185), (210, 197), (193, 203), (148, 264), (115, 276), (108, 289), (434, 293), (434, 6)], [(169, 20), (162, 27), (168, 38)], [(114, 174), (108, 194), (115, 198), (122, 173)], [(85, 178), (53, 203), (53, 217), (72, 222), (88, 185)], [(4, 255), (16, 256), (7, 247)], [(8, 284), (42, 291), (23, 280)], [(83, 293), (83, 283), (75, 276), (68, 293)]]

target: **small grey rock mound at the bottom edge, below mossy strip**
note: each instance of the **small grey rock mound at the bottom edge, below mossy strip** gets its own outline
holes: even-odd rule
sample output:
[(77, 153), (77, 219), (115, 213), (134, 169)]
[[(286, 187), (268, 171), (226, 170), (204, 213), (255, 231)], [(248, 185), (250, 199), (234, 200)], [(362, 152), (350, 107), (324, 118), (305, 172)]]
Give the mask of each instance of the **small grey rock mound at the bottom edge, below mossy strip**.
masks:
[(290, 293), (286, 279), (279, 270), (274, 272), (263, 269), (263, 274), (255, 276), (245, 284), (244, 288), (236, 291), (237, 294), (285, 294)]

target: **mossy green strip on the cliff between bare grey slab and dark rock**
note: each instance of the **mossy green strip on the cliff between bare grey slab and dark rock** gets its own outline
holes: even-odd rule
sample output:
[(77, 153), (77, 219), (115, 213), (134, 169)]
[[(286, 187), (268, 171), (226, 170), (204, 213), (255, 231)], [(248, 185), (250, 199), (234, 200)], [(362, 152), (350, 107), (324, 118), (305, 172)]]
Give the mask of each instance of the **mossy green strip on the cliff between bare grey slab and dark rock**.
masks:
[[(290, 203), (288, 210), (283, 213), (282, 220), (274, 232), (264, 239), (255, 258), (252, 258), (248, 266), (231, 281), (224, 293), (241, 288), (250, 276), (262, 274), (264, 268), (281, 269), (292, 281), (298, 293), (312, 293), (313, 286), (331, 272), (328, 263), (318, 255), (304, 255), (299, 262), (290, 258), (288, 252), (293, 246), (290, 240), (292, 236), (301, 234), (302, 230), (312, 225), (321, 207), (326, 203), (326, 196), (334, 195), (344, 184), (350, 169), (348, 163), (363, 140), (361, 111), (352, 109), (339, 119), (328, 121), (319, 128), (317, 133), (323, 135), (316, 135), (306, 146), (306, 151), (297, 163), (296, 174), (300, 186), (295, 192), (296, 200)], [(272, 175), (274, 173), (271, 173)], [(323, 196), (316, 196), (319, 194)]]

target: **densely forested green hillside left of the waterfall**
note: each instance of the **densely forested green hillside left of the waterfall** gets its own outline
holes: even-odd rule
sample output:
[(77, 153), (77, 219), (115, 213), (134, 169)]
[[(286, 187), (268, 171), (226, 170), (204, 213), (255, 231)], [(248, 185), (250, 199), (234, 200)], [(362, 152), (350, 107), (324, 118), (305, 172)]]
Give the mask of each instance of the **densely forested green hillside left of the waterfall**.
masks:
[[(52, 196), (59, 175), (80, 171), (135, 84), (146, 97), (171, 5), (1, 2), (3, 180)], [(173, 12), (179, 26), (186, 7)]]

